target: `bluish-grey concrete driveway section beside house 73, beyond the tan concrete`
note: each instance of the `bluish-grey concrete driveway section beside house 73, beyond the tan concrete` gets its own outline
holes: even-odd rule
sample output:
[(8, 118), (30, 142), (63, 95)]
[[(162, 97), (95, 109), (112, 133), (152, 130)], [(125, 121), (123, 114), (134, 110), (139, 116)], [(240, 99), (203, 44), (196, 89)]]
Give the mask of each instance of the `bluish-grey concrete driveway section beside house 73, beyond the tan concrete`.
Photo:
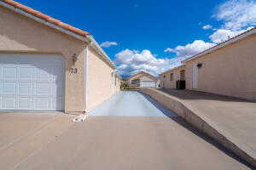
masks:
[(90, 116), (175, 117), (177, 115), (168, 111), (148, 95), (125, 91), (114, 95), (90, 111)]

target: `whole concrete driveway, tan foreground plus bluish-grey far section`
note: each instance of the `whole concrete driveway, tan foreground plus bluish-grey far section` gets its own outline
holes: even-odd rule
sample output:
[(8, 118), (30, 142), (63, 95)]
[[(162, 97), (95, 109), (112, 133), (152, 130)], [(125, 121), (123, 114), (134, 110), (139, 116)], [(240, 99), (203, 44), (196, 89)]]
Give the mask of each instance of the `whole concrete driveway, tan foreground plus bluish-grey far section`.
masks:
[(250, 169), (178, 116), (123, 92), (73, 116), (0, 114), (0, 169)]

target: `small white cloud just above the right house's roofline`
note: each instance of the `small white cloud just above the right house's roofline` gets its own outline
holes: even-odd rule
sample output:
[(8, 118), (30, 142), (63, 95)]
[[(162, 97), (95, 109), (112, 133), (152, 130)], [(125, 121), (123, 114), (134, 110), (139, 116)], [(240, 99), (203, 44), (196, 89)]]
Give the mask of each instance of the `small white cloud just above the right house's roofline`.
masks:
[(218, 29), (217, 31), (213, 32), (213, 34), (209, 37), (212, 42), (219, 43), (228, 40), (231, 37), (236, 37), (237, 35), (241, 34), (244, 31), (248, 31), (253, 27), (248, 27), (246, 30), (239, 30), (239, 31), (231, 31), (227, 29)]

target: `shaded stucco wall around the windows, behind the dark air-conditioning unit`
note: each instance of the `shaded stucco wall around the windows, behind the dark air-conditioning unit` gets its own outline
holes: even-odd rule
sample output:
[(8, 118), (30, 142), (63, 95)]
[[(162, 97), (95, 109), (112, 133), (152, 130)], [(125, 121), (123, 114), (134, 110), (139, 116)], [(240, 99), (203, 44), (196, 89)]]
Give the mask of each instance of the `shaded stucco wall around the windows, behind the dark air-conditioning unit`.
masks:
[[(160, 75), (160, 88), (176, 88), (176, 81), (180, 80), (180, 71), (185, 70), (185, 65), (177, 67), (177, 69), (174, 69), (172, 71), (167, 71)], [(171, 81), (171, 73), (173, 73), (173, 80)], [(164, 78), (164, 76), (166, 76)]]

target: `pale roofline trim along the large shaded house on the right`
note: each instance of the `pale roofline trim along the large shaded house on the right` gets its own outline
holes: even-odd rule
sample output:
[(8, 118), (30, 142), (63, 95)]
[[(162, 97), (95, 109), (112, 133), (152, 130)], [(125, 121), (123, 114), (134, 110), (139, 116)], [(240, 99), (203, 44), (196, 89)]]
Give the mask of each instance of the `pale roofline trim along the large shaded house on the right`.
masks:
[(244, 39), (244, 38), (246, 38), (246, 37), (248, 37), (248, 36), (251, 36), (251, 35), (253, 35), (253, 34), (255, 34), (255, 33), (256, 33), (256, 29), (253, 28), (252, 30), (246, 31), (246, 32), (244, 32), (244, 33), (241, 33), (241, 35), (238, 35), (238, 36), (236, 36), (236, 37), (233, 37), (233, 38), (231, 38), (230, 40), (228, 40), (228, 41), (226, 41), (226, 42), (219, 43), (218, 45), (216, 45), (216, 46), (214, 46), (214, 47), (212, 47), (212, 48), (209, 48), (209, 49), (207, 49), (207, 50), (205, 50), (205, 51), (203, 51), (203, 52), (201, 52), (201, 53), (199, 53), (199, 54), (195, 54), (194, 56), (190, 57), (189, 59), (184, 59), (184, 60), (182, 61), (182, 63), (186, 63), (186, 62), (188, 62), (188, 61), (190, 61), (190, 60), (192, 60), (192, 59), (196, 59), (196, 58), (201, 57), (202, 55), (205, 55), (205, 54), (210, 54), (210, 53), (212, 53), (213, 51), (217, 50), (218, 48), (223, 48), (223, 47), (226, 46), (226, 45), (229, 45), (229, 44), (231, 44), (231, 43), (240, 41), (240, 40), (242, 40), (242, 39)]

